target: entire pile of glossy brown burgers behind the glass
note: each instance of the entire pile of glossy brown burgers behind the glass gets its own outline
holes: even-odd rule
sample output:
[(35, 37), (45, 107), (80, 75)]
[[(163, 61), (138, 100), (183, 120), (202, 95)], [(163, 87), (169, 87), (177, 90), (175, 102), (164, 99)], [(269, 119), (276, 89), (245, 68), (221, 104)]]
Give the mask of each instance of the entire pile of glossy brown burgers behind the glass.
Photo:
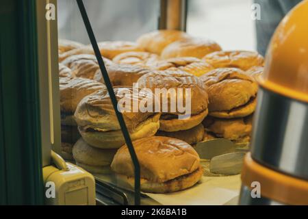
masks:
[[(115, 172), (133, 184), (131, 157), (92, 47), (59, 44), (62, 151), (89, 172)], [(222, 51), (212, 40), (176, 30), (153, 31), (136, 42), (99, 42), (99, 49), (119, 102), (148, 99), (152, 109), (160, 106), (158, 112), (126, 111), (133, 108), (129, 102), (122, 112), (143, 191), (175, 192), (198, 182), (203, 171), (192, 148), (198, 142), (249, 141), (261, 55)], [(157, 88), (167, 92), (157, 96)], [(172, 108), (172, 100), (185, 110), (189, 104), (189, 112)]]

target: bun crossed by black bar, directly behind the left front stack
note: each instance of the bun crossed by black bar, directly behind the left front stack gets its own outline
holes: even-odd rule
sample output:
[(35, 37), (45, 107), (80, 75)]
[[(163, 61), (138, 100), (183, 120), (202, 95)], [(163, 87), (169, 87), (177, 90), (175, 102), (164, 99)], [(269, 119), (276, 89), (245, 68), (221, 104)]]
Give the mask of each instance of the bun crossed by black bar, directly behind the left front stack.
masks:
[[(112, 86), (133, 86), (133, 83), (136, 83), (142, 75), (151, 72), (148, 68), (130, 64), (112, 64), (106, 68)], [(100, 69), (94, 74), (93, 79), (105, 83)]]

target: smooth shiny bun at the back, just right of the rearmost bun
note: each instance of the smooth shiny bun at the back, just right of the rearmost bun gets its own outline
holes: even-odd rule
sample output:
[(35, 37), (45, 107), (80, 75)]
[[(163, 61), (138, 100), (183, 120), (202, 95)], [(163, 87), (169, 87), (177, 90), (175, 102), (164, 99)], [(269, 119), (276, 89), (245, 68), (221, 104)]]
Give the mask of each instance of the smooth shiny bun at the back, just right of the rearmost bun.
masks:
[(215, 51), (221, 51), (221, 47), (213, 40), (188, 38), (172, 42), (165, 47), (162, 51), (162, 58), (190, 56), (201, 59), (205, 55)]

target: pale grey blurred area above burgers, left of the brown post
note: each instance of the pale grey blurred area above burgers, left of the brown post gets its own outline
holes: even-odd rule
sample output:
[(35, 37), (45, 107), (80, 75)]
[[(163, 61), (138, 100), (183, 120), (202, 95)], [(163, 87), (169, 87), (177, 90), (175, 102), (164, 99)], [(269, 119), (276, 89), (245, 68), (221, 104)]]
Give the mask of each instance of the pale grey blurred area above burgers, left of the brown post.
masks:
[[(59, 38), (90, 43), (76, 1), (57, 5)], [(85, 1), (85, 8), (98, 41), (134, 41), (157, 29), (159, 0), (91, 0)]]

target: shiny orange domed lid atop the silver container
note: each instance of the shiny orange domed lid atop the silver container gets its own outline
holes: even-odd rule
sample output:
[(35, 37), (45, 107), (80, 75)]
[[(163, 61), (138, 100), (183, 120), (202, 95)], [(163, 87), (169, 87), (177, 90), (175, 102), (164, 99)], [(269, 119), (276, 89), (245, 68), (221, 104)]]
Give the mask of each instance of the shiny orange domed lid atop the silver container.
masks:
[(277, 27), (266, 54), (261, 86), (308, 102), (308, 0), (291, 10)]

